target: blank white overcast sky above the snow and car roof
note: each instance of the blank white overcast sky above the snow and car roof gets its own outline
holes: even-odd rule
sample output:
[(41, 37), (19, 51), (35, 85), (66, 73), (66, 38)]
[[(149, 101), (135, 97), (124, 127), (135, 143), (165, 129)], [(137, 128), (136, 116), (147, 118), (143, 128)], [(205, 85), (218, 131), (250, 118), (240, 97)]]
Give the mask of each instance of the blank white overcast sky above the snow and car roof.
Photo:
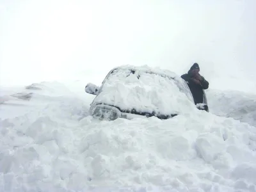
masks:
[(0, 0), (0, 84), (104, 78), (126, 64), (181, 75), (198, 62), (212, 88), (247, 91), (256, 88), (255, 18), (255, 0)]

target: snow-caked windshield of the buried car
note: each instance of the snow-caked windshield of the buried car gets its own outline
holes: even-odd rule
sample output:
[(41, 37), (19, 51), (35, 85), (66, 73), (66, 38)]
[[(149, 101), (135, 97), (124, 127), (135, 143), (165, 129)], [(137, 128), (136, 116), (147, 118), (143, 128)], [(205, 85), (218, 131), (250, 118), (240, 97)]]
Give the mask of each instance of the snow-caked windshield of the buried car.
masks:
[(132, 68), (113, 70), (95, 102), (166, 115), (186, 112), (193, 106), (188, 86), (179, 77)]

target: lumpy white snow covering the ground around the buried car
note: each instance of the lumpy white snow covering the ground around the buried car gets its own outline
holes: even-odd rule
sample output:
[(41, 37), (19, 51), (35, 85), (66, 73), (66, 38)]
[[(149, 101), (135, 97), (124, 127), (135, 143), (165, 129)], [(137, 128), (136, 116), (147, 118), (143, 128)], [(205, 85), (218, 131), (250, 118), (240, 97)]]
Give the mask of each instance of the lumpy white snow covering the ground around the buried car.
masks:
[(0, 191), (256, 191), (252, 124), (199, 110), (99, 121), (78, 83), (1, 88)]

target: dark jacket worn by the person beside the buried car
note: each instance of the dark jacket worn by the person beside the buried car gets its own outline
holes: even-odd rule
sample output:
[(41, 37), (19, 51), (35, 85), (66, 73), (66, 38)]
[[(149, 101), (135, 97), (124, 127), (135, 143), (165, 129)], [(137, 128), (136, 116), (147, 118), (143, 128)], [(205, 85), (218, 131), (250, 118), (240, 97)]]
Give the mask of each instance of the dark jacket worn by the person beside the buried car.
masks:
[(188, 74), (183, 74), (181, 76), (182, 79), (186, 81), (186, 83), (189, 86), (189, 89), (193, 95), (195, 104), (202, 103), (204, 101), (204, 92), (203, 90), (207, 90), (209, 88), (209, 82), (205, 80), (203, 76), (202, 81), (200, 81), (201, 84), (196, 84), (192, 78), (193, 76), (188, 72)]

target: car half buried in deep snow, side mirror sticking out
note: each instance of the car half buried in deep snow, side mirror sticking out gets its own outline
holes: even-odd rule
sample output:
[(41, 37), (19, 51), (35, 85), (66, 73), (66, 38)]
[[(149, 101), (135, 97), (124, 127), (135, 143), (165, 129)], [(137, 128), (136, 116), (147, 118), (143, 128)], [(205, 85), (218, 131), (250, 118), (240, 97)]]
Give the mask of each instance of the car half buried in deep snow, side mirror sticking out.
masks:
[(138, 116), (167, 119), (198, 110), (188, 84), (170, 70), (124, 65), (110, 70), (101, 86), (88, 83), (85, 92), (96, 95), (90, 115), (115, 120)]

